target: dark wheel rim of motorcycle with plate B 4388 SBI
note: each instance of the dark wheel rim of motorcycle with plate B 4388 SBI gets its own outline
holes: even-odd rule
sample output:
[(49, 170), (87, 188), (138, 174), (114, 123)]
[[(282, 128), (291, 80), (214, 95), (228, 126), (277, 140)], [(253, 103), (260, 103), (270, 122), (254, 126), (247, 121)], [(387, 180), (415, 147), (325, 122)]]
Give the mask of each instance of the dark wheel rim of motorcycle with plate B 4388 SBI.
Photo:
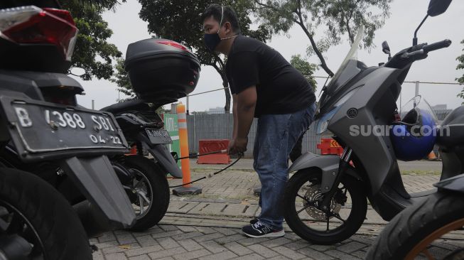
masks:
[(43, 247), (43, 241), (39, 237), (37, 230), (21, 211), (16, 209), (9, 202), (0, 199), (0, 234), (17, 235), (26, 240), (32, 251), (28, 254), (28, 259), (45, 260), (48, 256)]

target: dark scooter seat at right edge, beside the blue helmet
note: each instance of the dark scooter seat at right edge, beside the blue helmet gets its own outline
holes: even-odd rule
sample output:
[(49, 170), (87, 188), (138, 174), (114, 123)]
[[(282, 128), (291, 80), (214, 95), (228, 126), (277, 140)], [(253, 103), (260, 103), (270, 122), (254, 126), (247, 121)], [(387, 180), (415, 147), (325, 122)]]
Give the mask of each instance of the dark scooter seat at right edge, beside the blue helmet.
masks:
[(445, 147), (464, 144), (464, 106), (454, 109), (443, 120), (437, 131), (436, 143)]

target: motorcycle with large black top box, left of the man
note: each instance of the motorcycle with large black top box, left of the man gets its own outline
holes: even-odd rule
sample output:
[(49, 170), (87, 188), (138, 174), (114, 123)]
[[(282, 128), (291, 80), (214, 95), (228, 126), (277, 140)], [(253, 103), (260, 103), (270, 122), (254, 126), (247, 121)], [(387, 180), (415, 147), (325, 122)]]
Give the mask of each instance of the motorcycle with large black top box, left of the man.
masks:
[[(157, 224), (168, 209), (166, 175), (169, 173), (174, 178), (182, 178), (175, 156), (166, 147), (166, 144), (172, 143), (171, 136), (163, 129), (163, 120), (156, 109), (195, 90), (200, 61), (180, 43), (151, 38), (128, 46), (124, 66), (137, 99), (101, 110), (114, 114), (129, 144), (136, 147), (136, 156), (114, 156), (111, 159), (114, 165), (125, 166), (141, 178), (141, 182), (136, 183), (133, 178), (120, 179), (135, 208), (141, 205), (141, 210), (136, 212), (137, 222), (131, 230), (143, 231)], [(144, 157), (145, 149), (153, 160)], [(148, 192), (135, 196), (132, 190), (137, 185), (144, 185)]]

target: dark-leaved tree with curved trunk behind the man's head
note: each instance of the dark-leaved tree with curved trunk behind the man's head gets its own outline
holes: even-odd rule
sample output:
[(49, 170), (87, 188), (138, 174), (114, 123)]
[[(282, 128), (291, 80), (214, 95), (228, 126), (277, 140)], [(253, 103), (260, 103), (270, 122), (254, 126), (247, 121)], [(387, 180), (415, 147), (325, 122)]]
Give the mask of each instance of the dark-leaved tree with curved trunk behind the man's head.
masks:
[[(229, 82), (225, 75), (226, 60), (222, 55), (212, 54), (203, 42), (203, 21), (201, 13), (211, 4), (210, 1), (198, 0), (139, 0), (142, 9), (140, 18), (149, 23), (149, 33), (160, 38), (176, 40), (188, 46), (200, 59), (200, 63), (215, 68), (221, 76), (225, 88), (225, 112), (230, 111)], [(269, 31), (264, 26), (252, 30), (249, 11), (254, 4), (249, 0), (217, 0), (217, 4), (230, 5), (237, 12), (240, 28), (244, 36), (251, 36), (261, 41), (269, 39)]]

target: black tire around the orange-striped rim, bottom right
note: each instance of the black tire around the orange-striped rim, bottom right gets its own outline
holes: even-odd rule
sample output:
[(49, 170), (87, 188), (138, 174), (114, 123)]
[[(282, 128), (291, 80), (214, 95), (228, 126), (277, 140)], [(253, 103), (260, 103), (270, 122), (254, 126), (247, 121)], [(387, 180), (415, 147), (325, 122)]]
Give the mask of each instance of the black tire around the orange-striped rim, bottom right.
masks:
[[(423, 239), (453, 222), (464, 223), (464, 195), (435, 193), (407, 207), (382, 230), (366, 259), (406, 259)], [(414, 259), (412, 256), (411, 259)]]

